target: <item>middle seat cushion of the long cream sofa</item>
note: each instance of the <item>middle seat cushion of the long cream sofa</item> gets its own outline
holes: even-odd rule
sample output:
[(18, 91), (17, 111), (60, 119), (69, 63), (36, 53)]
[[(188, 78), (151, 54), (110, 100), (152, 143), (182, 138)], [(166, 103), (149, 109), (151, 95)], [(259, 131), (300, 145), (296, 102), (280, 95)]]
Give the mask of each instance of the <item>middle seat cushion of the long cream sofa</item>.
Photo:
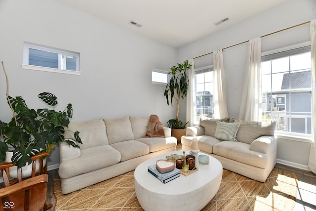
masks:
[(135, 140), (121, 141), (111, 146), (120, 152), (121, 162), (149, 154), (148, 145)]

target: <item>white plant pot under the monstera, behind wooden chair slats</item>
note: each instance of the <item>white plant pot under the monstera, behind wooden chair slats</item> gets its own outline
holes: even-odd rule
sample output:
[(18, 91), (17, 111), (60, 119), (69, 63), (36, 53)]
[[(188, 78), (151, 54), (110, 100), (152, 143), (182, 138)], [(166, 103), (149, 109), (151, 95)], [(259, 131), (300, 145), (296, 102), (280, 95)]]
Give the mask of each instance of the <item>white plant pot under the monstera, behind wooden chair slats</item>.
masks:
[[(13, 152), (6, 152), (5, 162), (12, 162), (11, 158), (13, 156)], [(46, 158), (43, 160), (43, 166), (46, 165)], [(17, 179), (18, 178), (18, 168), (16, 166), (9, 168), (10, 177)], [(40, 164), (39, 162), (36, 164), (36, 172), (40, 172)], [(29, 177), (32, 175), (32, 164), (22, 167), (22, 178)]]

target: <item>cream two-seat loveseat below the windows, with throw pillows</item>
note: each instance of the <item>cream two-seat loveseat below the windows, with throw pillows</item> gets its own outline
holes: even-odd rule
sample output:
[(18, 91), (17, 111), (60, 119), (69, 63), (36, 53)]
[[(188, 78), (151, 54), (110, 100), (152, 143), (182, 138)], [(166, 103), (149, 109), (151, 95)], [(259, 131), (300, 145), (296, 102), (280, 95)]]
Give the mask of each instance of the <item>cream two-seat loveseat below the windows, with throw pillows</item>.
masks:
[[(227, 120), (229, 118), (202, 119), (200, 125), (187, 127), (186, 135), (181, 138), (182, 149), (190, 150), (191, 141), (197, 138), (198, 149), (218, 159), (224, 169), (266, 181), (276, 165), (276, 123), (246, 122), (237, 118), (233, 118), (233, 123), (226, 123)], [(228, 128), (232, 126), (238, 127), (235, 137)], [(223, 134), (226, 140), (216, 138)]]

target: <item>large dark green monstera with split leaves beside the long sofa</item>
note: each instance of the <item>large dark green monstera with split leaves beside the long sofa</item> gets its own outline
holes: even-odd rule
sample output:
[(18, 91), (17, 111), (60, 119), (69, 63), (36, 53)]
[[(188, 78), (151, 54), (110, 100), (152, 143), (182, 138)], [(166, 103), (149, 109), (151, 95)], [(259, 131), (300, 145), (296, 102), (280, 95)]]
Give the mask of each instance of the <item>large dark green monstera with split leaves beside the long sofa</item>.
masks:
[[(4, 67), (3, 71), (5, 73)], [(42, 92), (38, 97), (47, 108), (30, 109), (22, 97), (13, 98), (6, 91), (13, 117), (9, 123), (0, 121), (0, 162), (5, 160), (8, 151), (13, 151), (12, 163), (24, 167), (31, 164), (31, 156), (45, 151), (49, 153), (54, 143), (65, 141), (74, 147), (82, 143), (78, 131), (74, 132), (76, 142), (64, 139), (63, 134), (73, 116), (72, 104), (69, 103), (64, 111), (55, 111), (58, 102), (54, 94)]]

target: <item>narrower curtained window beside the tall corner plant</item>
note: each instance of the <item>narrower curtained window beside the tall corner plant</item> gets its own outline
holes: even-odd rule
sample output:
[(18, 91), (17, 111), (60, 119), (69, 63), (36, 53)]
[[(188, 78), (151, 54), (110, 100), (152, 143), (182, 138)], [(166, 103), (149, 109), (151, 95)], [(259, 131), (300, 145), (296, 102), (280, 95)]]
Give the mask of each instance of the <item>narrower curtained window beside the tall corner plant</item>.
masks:
[(199, 121), (201, 116), (213, 118), (213, 67), (207, 66), (196, 69), (194, 79), (197, 121)]

